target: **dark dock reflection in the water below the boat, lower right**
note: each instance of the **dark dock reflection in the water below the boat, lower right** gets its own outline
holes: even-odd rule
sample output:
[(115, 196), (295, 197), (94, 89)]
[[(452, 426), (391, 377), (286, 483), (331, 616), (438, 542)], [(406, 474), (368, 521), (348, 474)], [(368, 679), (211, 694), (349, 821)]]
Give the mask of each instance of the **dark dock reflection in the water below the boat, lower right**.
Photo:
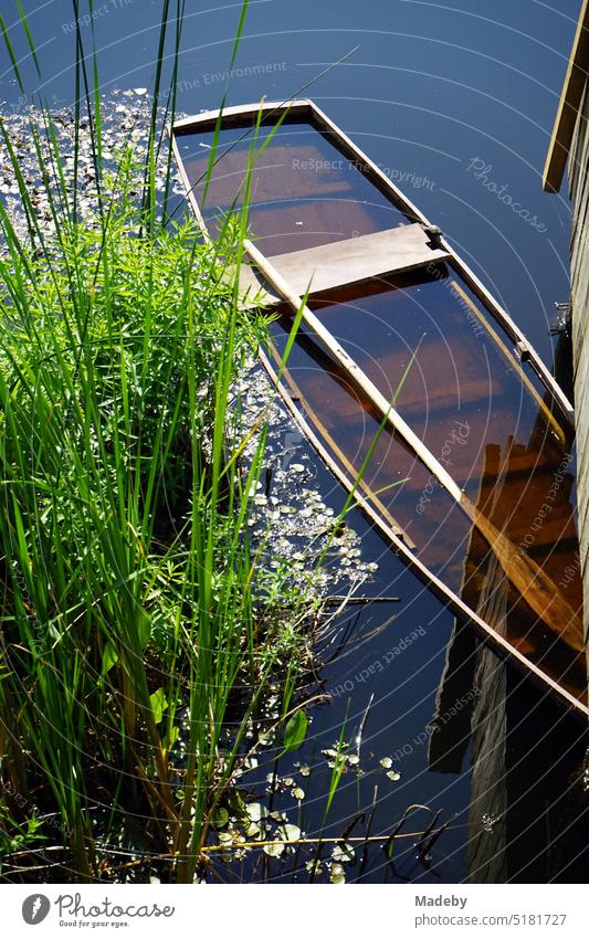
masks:
[(470, 750), (469, 882), (585, 882), (585, 734), (457, 622), (430, 733), (432, 772)]

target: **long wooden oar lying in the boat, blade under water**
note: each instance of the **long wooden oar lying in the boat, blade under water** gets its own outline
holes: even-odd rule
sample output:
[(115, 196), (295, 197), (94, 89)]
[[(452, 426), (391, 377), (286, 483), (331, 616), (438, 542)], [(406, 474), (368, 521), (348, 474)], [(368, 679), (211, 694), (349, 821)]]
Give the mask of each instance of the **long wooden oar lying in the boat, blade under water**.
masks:
[(435, 476), (440, 484), (460, 505), (469, 520), (488, 542), (506, 576), (519, 594), (524, 597), (538, 619), (575, 651), (581, 651), (583, 649), (582, 621), (578, 612), (567, 602), (556, 583), (554, 583), (538, 563), (520, 552), (473, 505), (467, 495), (454, 482), (450, 473), (446, 472), (433, 453), (422, 443), (409, 424), (406, 423), (393, 404), (378, 390), (376, 384), (339, 345), (335, 336), (325, 327), (322, 320), (303, 304), (301, 296), (292, 289), (285, 278), (272, 265), (272, 261), (252, 241), (244, 240), (243, 246), (272, 287), (284, 297), (295, 312), (302, 309), (302, 319), (308, 329), (328, 349), (347, 375), (350, 376), (366, 397), (369, 398), (381, 417), (387, 419), (396, 433), (409, 445), (429, 468), (431, 474)]

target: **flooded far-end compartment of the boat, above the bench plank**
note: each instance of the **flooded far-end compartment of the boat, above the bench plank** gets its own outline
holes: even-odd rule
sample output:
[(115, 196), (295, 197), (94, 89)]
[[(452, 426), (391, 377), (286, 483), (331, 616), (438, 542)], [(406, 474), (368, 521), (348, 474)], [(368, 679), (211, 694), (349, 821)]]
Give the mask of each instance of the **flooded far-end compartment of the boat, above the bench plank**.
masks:
[[(256, 148), (271, 128), (260, 128)], [(178, 135), (185, 168), (207, 224), (241, 208), (253, 135), (241, 139), (242, 126), (224, 129), (207, 188), (213, 131)], [(200, 181), (199, 181), (200, 180)], [(316, 247), (360, 234), (385, 231), (407, 222), (406, 215), (376, 189), (329, 139), (308, 123), (290, 120), (267, 148), (255, 157), (249, 197), (249, 220), (256, 243), (267, 256)]]

